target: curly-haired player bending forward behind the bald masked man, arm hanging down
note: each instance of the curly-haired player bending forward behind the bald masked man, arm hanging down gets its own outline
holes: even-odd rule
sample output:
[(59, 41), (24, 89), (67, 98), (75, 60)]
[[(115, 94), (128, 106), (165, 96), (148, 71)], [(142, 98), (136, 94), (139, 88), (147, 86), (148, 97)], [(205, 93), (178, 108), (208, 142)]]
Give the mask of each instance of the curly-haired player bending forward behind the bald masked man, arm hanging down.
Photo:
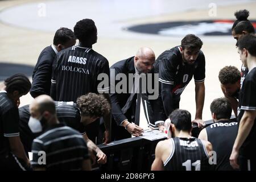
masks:
[[(31, 151), (32, 141), (38, 136), (38, 134), (32, 133), (28, 127), (28, 121), (30, 119), (29, 106), (30, 105), (19, 107), (20, 139), (22, 140), (26, 152)], [(110, 113), (108, 100), (100, 94), (88, 93), (80, 96), (77, 99), (77, 104), (73, 102), (55, 101), (55, 107), (58, 120), (72, 129), (79, 131), (85, 139), (89, 150), (96, 153), (97, 162), (105, 164), (106, 155), (88, 138), (87, 133), (90, 131), (88, 131), (86, 125), (95, 122), (98, 117)]]

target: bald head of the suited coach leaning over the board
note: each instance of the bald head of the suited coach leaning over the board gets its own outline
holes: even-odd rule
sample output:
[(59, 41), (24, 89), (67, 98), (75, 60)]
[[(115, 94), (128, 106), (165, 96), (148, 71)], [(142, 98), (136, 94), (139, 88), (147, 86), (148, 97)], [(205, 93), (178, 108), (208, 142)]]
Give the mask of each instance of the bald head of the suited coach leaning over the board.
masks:
[(155, 53), (151, 48), (141, 47), (134, 57), (134, 65), (139, 73), (148, 73), (155, 63)]

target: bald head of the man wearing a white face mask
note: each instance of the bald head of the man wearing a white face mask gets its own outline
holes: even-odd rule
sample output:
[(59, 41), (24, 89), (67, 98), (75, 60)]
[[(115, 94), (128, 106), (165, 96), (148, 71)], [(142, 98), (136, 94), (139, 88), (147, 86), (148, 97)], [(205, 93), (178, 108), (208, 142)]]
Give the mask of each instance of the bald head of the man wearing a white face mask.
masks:
[(35, 98), (35, 100), (30, 105), (30, 111), (36, 111), (40, 114), (44, 111), (48, 111), (51, 114), (55, 114), (55, 103), (51, 97), (47, 95), (41, 95)]

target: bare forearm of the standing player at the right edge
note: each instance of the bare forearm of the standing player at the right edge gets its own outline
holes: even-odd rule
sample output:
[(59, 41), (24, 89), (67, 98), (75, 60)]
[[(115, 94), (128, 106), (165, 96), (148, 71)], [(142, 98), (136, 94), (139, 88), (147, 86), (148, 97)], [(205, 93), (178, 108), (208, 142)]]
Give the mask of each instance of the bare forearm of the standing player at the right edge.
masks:
[(255, 111), (254, 111), (254, 114), (251, 113), (251, 111), (245, 111), (245, 113), (243, 113), (243, 116), (239, 123), (237, 138), (233, 146), (235, 150), (239, 150), (243, 142), (245, 142), (245, 139), (248, 137), (251, 131), (251, 128), (253, 127), (254, 119), (255, 119)]

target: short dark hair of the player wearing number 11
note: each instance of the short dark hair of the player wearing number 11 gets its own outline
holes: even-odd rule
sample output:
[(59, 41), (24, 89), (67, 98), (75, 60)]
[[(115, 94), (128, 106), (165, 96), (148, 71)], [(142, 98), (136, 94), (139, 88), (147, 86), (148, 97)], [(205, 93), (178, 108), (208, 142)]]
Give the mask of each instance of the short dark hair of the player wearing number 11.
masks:
[(191, 114), (187, 110), (175, 109), (169, 115), (171, 123), (174, 124), (178, 131), (191, 131)]

